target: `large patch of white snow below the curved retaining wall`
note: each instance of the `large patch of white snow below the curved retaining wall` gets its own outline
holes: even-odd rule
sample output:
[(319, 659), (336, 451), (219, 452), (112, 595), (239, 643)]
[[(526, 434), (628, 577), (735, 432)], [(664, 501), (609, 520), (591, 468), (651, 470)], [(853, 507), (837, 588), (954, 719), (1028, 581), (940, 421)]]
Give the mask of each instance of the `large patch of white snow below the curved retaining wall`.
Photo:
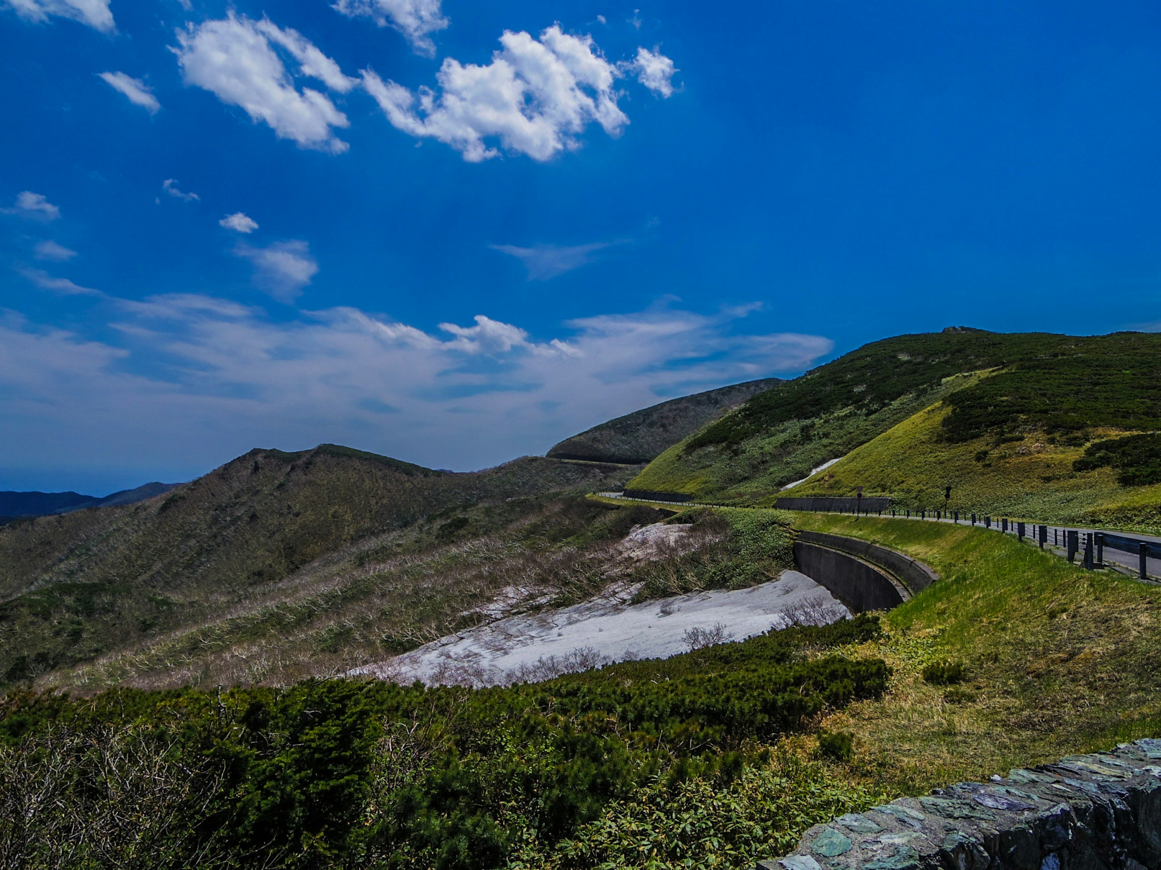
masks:
[[(680, 535), (665, 532), (671, 534)], [(641, 545), (642, 537), (633, 541), (630, 535), (626, 543)], [(622, 586), (583, 604), (510, 616), (349, 673), (428, 686), (536, 682), (616, 661), (668, 658), (795, 622), (824, 624), (851, 615), (827, 589), (796, 571), (749, 589), (629, 604), (635, 593), (636, 587)]]

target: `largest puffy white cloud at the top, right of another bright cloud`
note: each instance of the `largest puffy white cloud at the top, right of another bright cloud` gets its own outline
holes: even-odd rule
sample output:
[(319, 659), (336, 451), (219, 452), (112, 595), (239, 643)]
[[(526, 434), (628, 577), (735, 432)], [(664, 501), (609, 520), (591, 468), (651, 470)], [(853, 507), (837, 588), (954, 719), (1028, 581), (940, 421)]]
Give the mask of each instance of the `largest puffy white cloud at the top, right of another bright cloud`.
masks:
[(569, 36), (554, 24), (539, 41), (505, 31), (500, 45), (486, 66), (445, 58), (439, 93), (414, 94), (372, 70), (362, 71), (363, 85), (396, 128), (446, 143), (473, 162), (500, 153), (485, 140), (548, 160), (579, 147), (577, 137), (591, 123), (610, 136), (629, 123), (613, 88), (625, 70), (608, 63), (592, 37)]

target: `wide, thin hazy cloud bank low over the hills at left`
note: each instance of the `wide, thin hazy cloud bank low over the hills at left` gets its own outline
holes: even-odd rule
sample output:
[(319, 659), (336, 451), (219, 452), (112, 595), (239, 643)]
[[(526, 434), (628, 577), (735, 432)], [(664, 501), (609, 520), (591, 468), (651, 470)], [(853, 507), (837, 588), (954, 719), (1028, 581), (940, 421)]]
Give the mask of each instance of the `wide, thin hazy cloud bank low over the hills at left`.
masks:
[[(151, 467), (201, 473), (255, 445), (324, 441), (481, 467), (673, 396), (801, 371), (831, 349), (816, 335), (745, 334), (745, 310), (659, 306), (546, 339), (484, 316), (432, 334), (355, 309), (286, 320), (205, 296), (109, 310), (98, 328), (110, 342), (0, 319), (0, 443), (30, 467), (70, 456), (150, 479)], [(388, 407), (398, 413), (383, 426)]]

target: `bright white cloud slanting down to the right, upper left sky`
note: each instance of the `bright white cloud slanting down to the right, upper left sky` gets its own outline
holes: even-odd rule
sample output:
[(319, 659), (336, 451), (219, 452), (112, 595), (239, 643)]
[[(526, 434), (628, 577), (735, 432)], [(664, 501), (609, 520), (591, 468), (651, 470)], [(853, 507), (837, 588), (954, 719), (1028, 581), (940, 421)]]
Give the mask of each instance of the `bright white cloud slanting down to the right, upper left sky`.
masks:
[(268, 19), (251, 21), (235, 13), (225, 19), (189, 24), (178, 32), (174, 49), (187, 85), (243, 108), (251, 121), (268, 124), (282, 139), (301, 147), (340, 154), (348, 145), (334, 128), (349, 126), (331, 99), (313, 88), (298, 89), (287, 71), (279, 46), (297, 63), (297, 73), (317, 79), (331, 90), (346, 93), (356, 84), (339, 65), (295, 30), (282, 30)]

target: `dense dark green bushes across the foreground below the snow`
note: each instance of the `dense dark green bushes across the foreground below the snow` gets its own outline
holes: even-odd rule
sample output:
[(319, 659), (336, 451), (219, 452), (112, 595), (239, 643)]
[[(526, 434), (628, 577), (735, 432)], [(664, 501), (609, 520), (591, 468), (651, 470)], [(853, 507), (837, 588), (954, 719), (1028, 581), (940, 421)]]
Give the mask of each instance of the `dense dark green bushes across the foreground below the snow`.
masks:
[(0, 864), (502, 867), (642, 788), (726, 789), (763, 742), (879, 695), (881, 660), (798, 652), (877, 631), (860, 616), (509, 689), (10, 695)]

